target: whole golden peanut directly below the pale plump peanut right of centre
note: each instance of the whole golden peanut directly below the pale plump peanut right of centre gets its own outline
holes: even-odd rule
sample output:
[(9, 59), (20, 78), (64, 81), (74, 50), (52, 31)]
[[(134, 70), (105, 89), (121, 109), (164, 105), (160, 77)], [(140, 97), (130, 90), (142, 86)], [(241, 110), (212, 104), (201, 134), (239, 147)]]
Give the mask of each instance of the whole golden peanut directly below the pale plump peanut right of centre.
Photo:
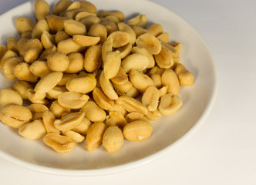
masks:
[(143, 74), (135, 69), (130, 71), (129, 79), (133, 86), (142, 93), (144, 93), (149, 86), (154, 86), (153, 80), (150, 78), (150, 76), (147, 76), (146, 74)]

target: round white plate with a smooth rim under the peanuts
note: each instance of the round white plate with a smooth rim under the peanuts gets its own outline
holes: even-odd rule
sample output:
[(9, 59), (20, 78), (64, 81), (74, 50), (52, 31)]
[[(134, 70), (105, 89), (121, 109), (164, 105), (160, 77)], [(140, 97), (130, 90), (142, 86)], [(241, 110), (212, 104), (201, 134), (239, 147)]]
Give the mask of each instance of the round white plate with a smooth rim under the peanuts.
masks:
[[(53, 2), (50, 0), (50, 2)], [(139, 143), (125, 141), (116, 153), (107, 153), (100, 146), (88, 153), (84, 143), (70, 153), (59, 154), (42, 143), (42, 140), (25, 140), (17, 133), (0, 124), (0, 156), (22, 167), (45, 173), (93, 176), (116, 173), (149, 163), (163, 154), (170, 153), (177, 143), (190, 136), (203, 123), (217, 95), (217, 72), (211, 50), (202, 36), (183, 18), (163, 6), (150, 1), (93, 0), (99, 10), (120, 10), (126, 17), (138, 13), (147, 15), (148, 22), (160, 23), (170, 40), (181, 42), (181, 62), (195, 76), (194, 86), (182, 87), (180, 97), (184, 106), (173, 116), (163, 116), (153, 123), (153, 135)], [(27, 2), (0, 16), (0, 43), (17, 35), (15, 18), (34, 18), (32, 2)], [(0, 86), (10, 86), (10, 80), (0, 76)]]

